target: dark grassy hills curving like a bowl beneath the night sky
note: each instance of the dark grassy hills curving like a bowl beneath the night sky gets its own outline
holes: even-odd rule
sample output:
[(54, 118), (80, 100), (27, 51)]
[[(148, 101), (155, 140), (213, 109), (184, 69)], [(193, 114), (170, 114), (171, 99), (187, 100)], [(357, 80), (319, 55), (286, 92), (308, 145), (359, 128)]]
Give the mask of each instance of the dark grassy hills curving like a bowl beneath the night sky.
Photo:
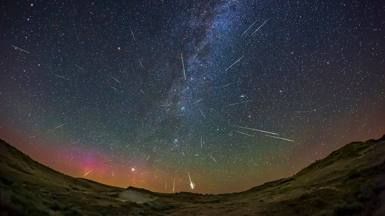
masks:
[(385, 135), (297, 174), (218, 195), (165, 194), (74, 178), (0, 139), (0, 215), (385, 215)]

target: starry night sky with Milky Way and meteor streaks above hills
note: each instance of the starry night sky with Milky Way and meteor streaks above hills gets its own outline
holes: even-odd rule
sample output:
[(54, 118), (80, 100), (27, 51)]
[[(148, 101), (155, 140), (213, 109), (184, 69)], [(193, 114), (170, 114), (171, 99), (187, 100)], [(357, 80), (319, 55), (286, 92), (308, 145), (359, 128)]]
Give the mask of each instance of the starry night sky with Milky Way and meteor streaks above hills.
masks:
[(381, 0), (0, 5), (0, 137), (65, 174), (242, 191), (385, 132)]

